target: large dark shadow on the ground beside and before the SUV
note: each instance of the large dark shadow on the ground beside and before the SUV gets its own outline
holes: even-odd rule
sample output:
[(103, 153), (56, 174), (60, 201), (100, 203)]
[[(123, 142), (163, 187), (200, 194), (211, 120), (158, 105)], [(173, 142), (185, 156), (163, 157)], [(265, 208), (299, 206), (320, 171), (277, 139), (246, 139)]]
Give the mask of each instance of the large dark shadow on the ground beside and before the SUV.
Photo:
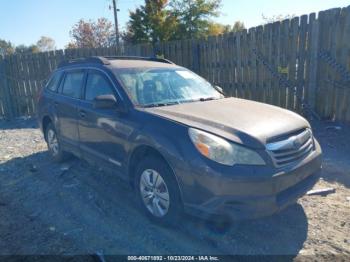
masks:
[[(130, 186), (77, 159), (47, 152), (0, 164), (1, 252), (8, 254), (206, 254), (296, 256), (307, 238), (303, 207), (220, 225), (184, 216), (177, 226), (149, 221)], [(0, 221), (5, 223), (4, 221)], [(21, 225), (20, 227), (18, 225)], [(11, 243), (10, 245), (5, 243)]]

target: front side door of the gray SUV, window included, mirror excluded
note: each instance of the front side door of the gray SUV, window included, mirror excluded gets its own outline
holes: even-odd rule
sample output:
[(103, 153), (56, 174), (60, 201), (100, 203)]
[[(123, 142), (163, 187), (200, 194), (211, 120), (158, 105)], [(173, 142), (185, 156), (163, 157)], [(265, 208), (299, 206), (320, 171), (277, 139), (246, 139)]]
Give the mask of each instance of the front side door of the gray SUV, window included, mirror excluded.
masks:
[(125, 157), (124, 146), (131, 131), (123, 115), (115, 108), (93, 108), (93, 100), (99, 95), (114, 95), (121, 99), (116, 88), (104, 72), (88, 71), (85, 96), (79, 109), (79, 137), (82, 153), (93, 161), (100, 160), (121, 170)]

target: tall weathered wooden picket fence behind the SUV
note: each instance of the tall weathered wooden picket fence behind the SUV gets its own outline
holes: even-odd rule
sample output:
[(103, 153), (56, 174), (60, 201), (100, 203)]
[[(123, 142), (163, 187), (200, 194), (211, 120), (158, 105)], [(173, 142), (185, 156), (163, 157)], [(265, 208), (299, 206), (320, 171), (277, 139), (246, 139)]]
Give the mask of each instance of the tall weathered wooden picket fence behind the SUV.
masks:
[(350, 121), (350, 6), (207, 39), (6, 56), (0, 58), (0, 117), (35, 115), (38, 90), (64, 59), (155, 54), (227, 95)]

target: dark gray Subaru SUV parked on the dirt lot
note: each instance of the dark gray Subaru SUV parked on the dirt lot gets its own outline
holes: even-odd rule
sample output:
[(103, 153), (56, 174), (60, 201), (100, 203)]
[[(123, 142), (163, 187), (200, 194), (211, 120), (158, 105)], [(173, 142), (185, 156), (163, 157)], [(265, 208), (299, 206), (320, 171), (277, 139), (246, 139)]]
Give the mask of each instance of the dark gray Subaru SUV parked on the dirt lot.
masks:
[(291, 111), (238, 98), (166, 59), (62, 63), (38, 102), (56, 161), (73, 154), (128, 181), (158, 222), (257, 218), (318, 180), (321, 148)]

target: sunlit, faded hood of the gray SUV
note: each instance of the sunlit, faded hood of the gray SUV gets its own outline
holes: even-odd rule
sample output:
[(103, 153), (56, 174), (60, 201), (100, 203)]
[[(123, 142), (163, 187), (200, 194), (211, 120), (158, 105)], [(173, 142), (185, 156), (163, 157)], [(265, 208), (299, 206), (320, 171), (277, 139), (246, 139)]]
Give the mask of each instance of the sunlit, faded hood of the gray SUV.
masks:
[(144, 110), (253, 148), (265, 148), (273, 137), (310, 127), (303, 117), (289, 110), (238, 98)]

